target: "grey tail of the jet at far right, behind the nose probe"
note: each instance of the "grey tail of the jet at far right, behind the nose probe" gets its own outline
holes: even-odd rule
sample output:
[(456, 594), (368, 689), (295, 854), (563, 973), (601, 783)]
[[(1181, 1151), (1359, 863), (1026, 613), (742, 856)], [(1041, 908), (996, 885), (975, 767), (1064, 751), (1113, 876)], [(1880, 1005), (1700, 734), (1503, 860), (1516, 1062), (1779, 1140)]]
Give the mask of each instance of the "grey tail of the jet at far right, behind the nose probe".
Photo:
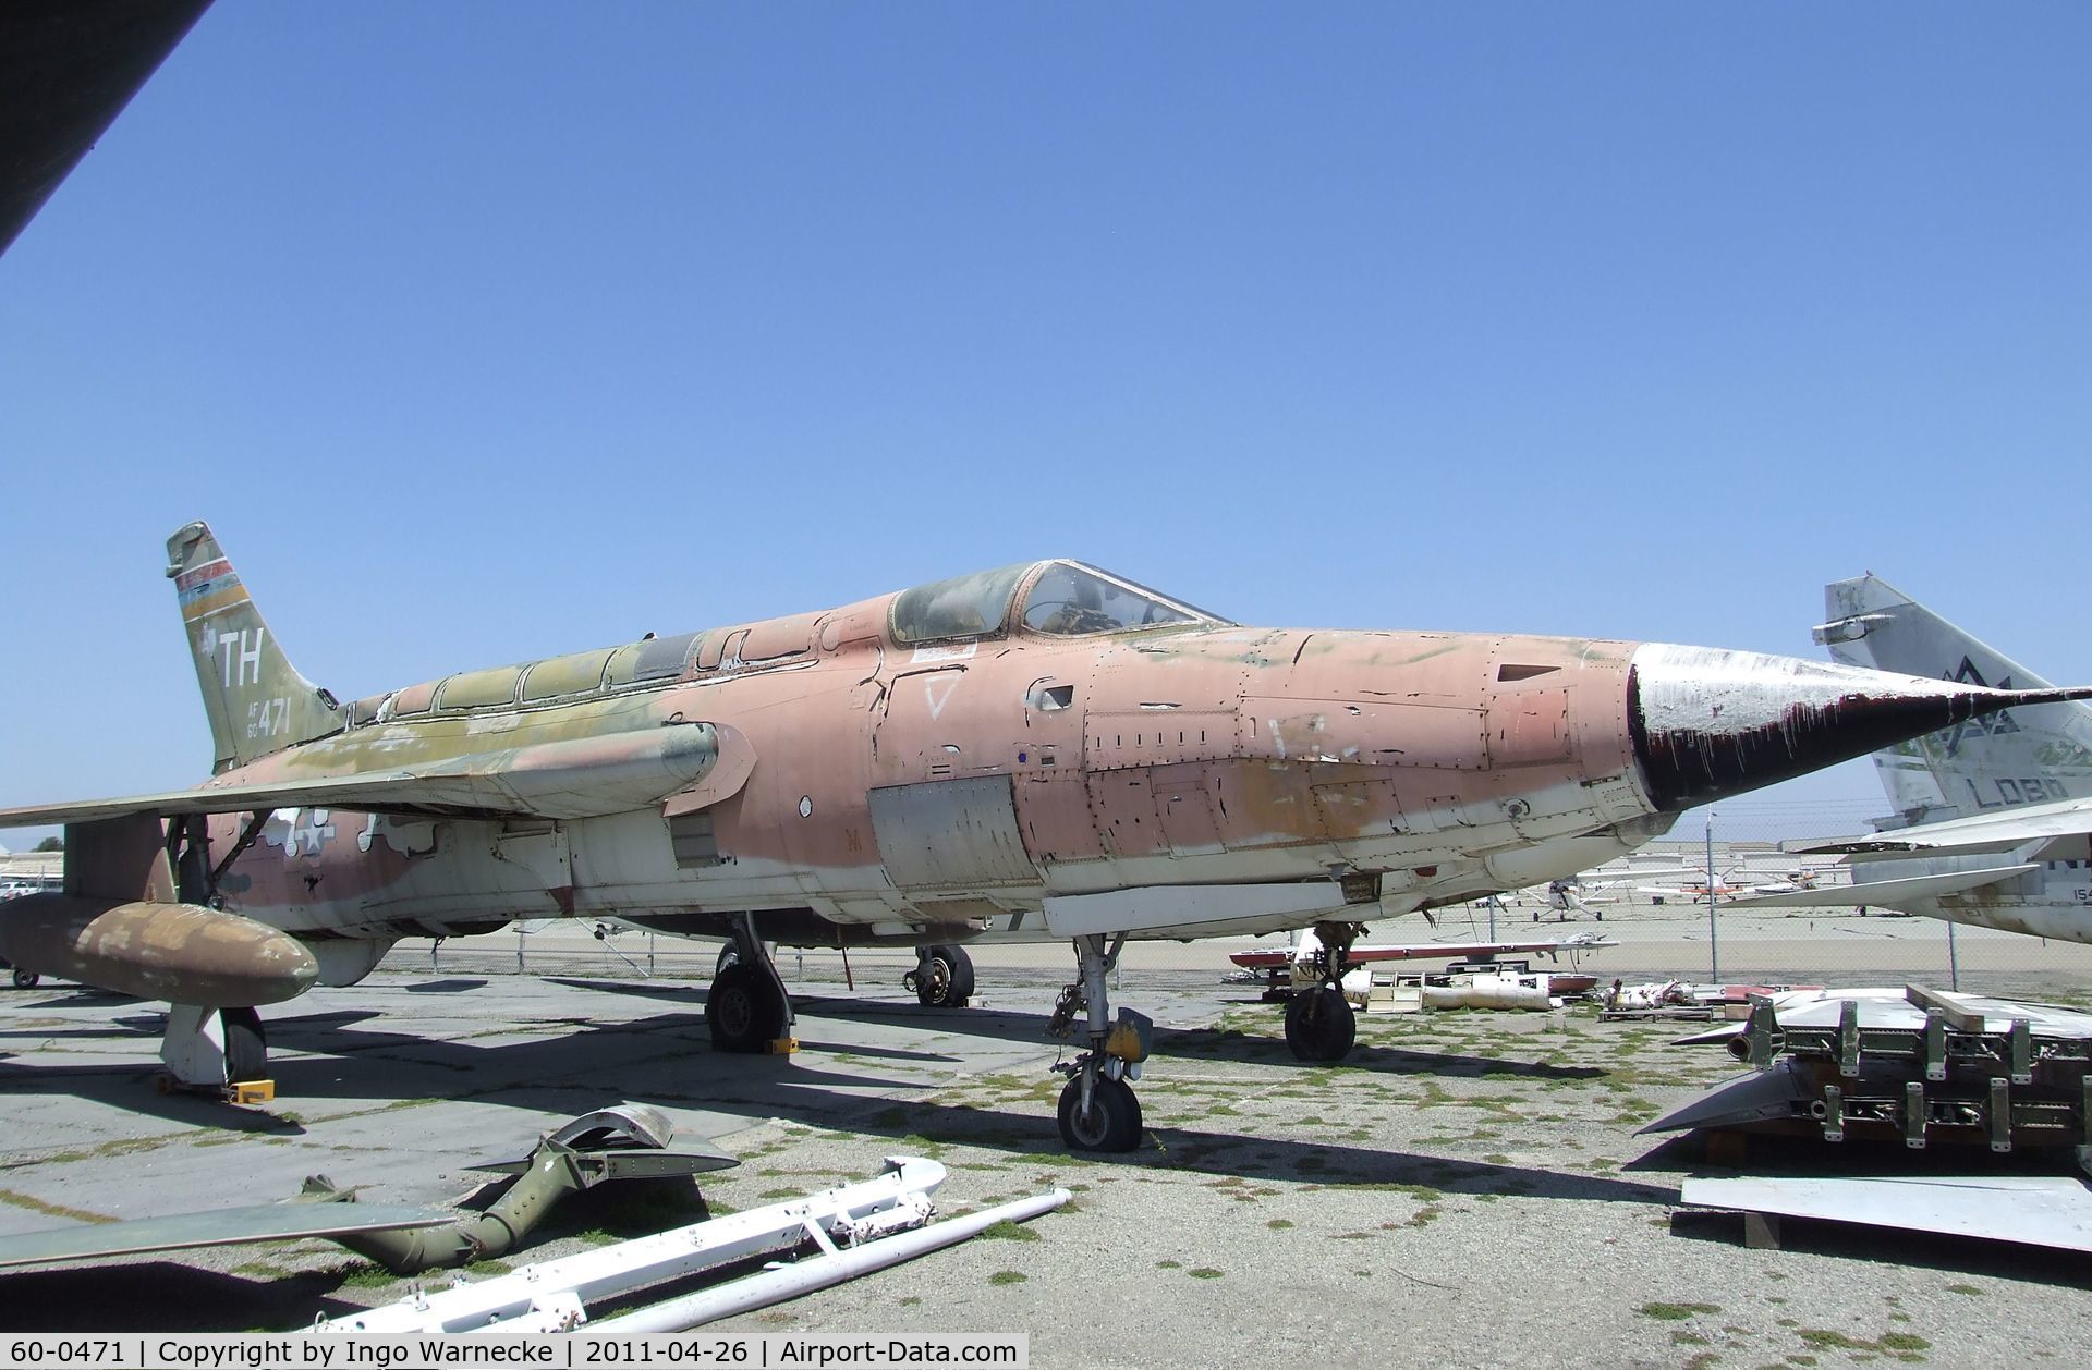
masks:
[[(1885, 579), (1824, 586), (1816, 640), (1833, 661), (2000, 688), (2048, 682)], [(2092, 795), (2092, 709), (2033, 705), (1877, 751), (1881, 786), (1908, 822)]]

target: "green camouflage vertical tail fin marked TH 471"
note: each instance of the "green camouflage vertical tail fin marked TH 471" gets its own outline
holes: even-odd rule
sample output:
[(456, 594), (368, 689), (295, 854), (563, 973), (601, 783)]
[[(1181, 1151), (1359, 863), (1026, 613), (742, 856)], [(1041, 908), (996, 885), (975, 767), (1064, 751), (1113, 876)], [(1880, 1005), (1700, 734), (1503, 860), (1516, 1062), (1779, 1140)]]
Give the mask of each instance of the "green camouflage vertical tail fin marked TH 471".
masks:
[(341, 705), (282, 655), (209, 525), (167, 540), (167, 575), (211, 717), (213, 772), (341, 730)]

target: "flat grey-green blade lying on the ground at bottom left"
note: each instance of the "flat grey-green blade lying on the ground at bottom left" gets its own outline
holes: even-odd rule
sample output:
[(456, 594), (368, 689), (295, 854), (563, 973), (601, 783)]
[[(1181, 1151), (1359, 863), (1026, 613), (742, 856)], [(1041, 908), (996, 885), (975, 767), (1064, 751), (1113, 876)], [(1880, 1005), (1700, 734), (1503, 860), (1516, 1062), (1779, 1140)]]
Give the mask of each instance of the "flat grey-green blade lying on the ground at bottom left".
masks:
[(264, 1203), (215, 1213), (169, 1213), (113, 1224), (79, 1224), (0, 1236), (0, 1268), (46, 1261), (98, 1261), (146, 1251), (236, 1247), (241, 1242), (295, 1242), (345, 1232), (439, 1228), (454, 1215), (374, 1203)]

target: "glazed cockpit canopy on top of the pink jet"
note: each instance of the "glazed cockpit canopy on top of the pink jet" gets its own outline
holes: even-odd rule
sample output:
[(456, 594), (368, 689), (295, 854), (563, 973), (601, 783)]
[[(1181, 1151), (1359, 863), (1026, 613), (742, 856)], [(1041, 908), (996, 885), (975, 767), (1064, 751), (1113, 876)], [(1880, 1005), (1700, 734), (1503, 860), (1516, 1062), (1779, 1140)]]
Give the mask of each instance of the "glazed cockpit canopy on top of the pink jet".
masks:
[[(1023, 604), (1013, 617), (1019, 590)], [(1077, 638), (1226, 621), (1079, 561), (1029, 561), (902, 590), (893, 596), (891, 630), (895, 642), (912, 644), (987, 638), (1013, 627)]]

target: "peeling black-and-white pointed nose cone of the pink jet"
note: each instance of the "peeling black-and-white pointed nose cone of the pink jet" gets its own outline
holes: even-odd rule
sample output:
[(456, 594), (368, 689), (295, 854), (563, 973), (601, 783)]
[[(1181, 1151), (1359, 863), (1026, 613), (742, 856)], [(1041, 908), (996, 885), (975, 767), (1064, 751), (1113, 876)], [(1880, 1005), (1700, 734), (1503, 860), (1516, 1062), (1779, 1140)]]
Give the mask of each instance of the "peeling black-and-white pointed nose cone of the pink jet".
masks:
[(2015, 705), (2092, 690), (1992, 690), (1851, 665), (1644, 642), (1628, 667), (1628, 732), (1659, 812), (1791, 780)]

